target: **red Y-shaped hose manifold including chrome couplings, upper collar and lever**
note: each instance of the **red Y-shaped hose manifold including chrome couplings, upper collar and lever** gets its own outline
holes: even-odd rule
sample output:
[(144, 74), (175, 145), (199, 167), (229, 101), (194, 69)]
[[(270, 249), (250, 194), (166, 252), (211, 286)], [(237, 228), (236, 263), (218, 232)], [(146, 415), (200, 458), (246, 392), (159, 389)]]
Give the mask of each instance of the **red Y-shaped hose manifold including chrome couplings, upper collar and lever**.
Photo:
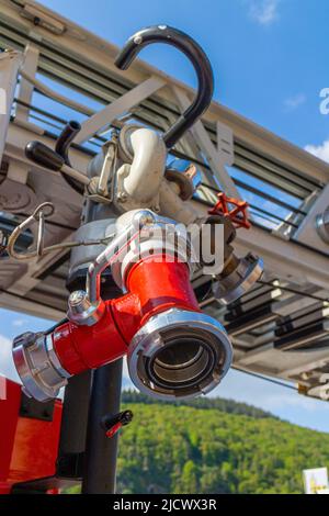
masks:
[[(156, 397), (191, 397), (220, 382), (231, 345), (222, 324), (200, 311), (190, 282), (191, 243), (169, 222), (164, 246), (168, 221), (135, 213), (90, 266), (86, 291), (70, 295), (68, 322), (48, 334), (16, 337), (13, 358), (27, 394), (56, 397), (69, 377), (124, 355), (135, 385)], [(106, 267), (125, 292), (110, 301), (100, 296)]]

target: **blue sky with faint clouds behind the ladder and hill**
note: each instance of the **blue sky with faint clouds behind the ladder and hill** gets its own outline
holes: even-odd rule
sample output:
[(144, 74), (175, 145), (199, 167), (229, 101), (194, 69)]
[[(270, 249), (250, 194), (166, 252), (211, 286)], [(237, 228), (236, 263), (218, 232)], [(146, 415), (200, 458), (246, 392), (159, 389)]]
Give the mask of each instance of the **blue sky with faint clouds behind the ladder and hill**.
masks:
[[(195, 37), (215, 75), (215, 98), (280, 136), (329, 160), (329, 116), (319, 92), (329, 87), (328, 0), (44, 0), (98, 35), (122, 45), (136, 30), (171, 24)], [(167, 46), (141, 57), (194, 86), (185, 58)], [(11, 338), (48, 323), (0, 311), (0, 372), (14, 378)], [(329, 405), (231, 371), (216, 395), (245, 401), (299, 425), (329, 431)]]

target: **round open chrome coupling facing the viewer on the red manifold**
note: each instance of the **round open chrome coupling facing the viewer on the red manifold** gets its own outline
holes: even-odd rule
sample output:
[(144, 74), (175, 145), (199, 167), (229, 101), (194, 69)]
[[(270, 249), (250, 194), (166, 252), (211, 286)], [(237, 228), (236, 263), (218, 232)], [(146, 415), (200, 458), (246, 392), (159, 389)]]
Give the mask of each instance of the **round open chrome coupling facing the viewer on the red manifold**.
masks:
[(213, 317), (171, 309), (151, 317), (133, 337), (127, 363), (141, 392), (163, 400), (212, 391), (227, 373), (232, 347)]

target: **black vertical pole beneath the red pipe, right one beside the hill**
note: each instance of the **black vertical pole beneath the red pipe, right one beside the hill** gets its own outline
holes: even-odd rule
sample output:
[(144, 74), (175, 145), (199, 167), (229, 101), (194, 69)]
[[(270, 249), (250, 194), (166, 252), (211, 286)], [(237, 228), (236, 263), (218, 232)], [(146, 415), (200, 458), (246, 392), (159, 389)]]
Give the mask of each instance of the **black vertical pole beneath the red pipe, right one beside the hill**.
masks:
[[(109, 344), (110, 345), (110, 344)], [(123, 360), (93, 371), (82, 493), (115, 493), (117, 434), (106, 437), (101, 418), (120, 412)]]

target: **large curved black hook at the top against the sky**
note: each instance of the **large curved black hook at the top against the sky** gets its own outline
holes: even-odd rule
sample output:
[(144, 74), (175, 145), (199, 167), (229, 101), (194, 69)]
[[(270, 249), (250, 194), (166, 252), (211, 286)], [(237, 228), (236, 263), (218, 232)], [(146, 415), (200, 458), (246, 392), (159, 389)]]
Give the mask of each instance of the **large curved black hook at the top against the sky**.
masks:
[(167, 43), (183, 52), (191, 60), (198, 80), (193, 103), (163, 135), (167, 147), (171, 148), (212, 102), (214, 76), (212, 65), (201, 46), (184, 32), (167, 25), (155, 25), (136, 32), (120, 52), (114, 61), (115, 66), (126, 70), (141, 48), (150, 43)]

